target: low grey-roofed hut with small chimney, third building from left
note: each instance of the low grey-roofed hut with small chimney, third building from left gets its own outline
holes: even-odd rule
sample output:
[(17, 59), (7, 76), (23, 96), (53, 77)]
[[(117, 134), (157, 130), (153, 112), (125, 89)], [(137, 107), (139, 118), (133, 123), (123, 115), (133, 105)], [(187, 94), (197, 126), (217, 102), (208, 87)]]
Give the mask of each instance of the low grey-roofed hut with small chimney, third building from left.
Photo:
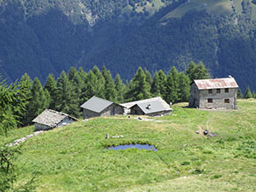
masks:
[(160, 96), (136, 102), (121, 104), (125, 107), (125, 114), (161, 116), (172, 113), (172, 108)]

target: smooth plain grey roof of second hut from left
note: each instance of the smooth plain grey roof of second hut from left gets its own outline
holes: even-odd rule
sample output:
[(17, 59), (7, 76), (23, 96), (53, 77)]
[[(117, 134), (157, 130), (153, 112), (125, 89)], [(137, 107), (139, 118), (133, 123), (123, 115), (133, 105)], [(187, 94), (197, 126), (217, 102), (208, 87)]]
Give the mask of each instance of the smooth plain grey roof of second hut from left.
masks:
[(105, 108), (108, 108), (108, 106), (112, 104), (113, 102), (99, 98), (97, 96), (92, 96), (87, 102), (84, 102), (84, 104), (80, 107), (89, 109), (90, 111), (96, 113), (101, 113)]

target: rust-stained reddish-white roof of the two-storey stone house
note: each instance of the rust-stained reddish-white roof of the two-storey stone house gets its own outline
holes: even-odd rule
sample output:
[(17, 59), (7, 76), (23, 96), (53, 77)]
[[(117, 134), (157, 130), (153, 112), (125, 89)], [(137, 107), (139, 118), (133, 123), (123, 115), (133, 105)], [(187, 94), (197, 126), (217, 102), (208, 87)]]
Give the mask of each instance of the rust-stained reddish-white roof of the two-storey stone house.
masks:
[(198, 79), (194, 80), (199, 90), (221, 89), (221, 88), (238, 88), (234, 78), (223, 79)]

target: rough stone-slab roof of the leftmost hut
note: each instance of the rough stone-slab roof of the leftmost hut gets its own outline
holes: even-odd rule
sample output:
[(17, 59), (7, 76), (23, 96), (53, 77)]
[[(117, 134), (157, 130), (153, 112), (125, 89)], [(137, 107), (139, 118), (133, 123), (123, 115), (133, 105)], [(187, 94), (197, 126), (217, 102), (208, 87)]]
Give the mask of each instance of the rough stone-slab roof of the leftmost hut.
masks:
[(69, 117), (73, 120), (78, 120), (69, 114), (57, 112), (51, 109), (45, 109), (43, 113), (39, 114), (38, 117), (32, 120), (33, 123), (38, 123), (42, 125), (48, 125), (49, 127), (55, 127), (61, 120)]

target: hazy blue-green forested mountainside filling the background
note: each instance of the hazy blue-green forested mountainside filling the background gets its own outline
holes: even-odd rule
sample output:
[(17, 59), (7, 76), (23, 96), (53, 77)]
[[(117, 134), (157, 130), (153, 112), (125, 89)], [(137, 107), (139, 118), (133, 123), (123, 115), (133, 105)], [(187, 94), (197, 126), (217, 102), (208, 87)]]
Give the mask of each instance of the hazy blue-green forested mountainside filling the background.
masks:
[(103, 64), (131, 79), (203, 61), (256, 90), (256, 5), (249, 0), (0, 0), (0, 74), (45, 80)]

